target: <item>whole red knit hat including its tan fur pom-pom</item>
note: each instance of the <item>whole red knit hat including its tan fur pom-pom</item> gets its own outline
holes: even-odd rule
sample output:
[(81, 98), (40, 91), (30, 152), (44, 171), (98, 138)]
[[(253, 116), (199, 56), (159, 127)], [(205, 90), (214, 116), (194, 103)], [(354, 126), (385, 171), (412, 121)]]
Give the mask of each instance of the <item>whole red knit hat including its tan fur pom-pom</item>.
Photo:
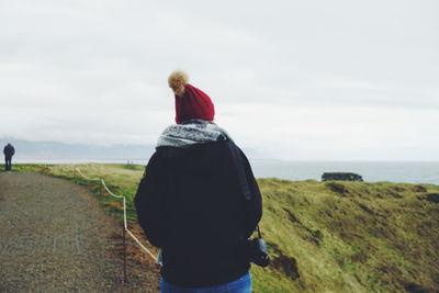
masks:
[(183, 71), (175, 71), (168, 78), (169, 87), (176, 93), (176, 122), (199, 119), (213, 121), (215, 108), (211, 98), (202, 90), (188, 83), (189, 77)]

